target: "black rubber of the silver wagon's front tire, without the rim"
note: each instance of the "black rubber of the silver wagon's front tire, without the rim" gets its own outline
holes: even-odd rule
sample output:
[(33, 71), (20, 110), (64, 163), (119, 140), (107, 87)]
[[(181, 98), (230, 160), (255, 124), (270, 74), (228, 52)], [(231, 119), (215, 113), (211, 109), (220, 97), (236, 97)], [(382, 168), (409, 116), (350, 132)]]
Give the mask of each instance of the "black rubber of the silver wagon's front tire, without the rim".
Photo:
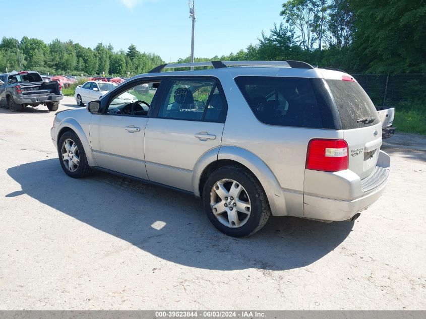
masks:
[[(68, 167), (66, 167), (63, 160), (62, 149), (64, 147), (64, 142), (67, 140), (71, 140), (73, 143), (77, 145), (78, 157), (80, 161), (75, 171), (71, 171)], [(87, 163), (87, 157), (86, 157), (86, 153), (84, 152), (83, 144), (81, 144), (79, 137), (73, 131), (65, 132), (60, 137), (58, 142), (57, 152), (58, 152), (60, 167), (62, 167), (62, 169), (68, 176), (73, 178), (82, 178), (90, 174), (90, 172), (92, 171), (89, 164)]]

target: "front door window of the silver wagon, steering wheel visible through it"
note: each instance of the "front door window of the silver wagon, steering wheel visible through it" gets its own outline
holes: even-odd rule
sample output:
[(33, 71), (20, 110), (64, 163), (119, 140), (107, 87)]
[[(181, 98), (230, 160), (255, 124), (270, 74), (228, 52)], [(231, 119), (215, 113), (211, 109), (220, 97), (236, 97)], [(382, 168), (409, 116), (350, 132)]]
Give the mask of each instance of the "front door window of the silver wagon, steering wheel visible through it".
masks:
[(112, 96), (107, 112), (110, 114), (147, 116), (160, 81), (138, 83)]

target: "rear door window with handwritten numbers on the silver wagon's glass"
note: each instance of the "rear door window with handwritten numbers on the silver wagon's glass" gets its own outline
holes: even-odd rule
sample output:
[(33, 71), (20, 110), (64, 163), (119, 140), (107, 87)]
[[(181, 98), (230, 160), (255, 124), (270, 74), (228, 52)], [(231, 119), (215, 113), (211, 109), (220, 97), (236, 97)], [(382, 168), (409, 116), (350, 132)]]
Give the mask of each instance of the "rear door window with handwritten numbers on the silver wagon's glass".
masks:
[(173, 79), (165, 90), (158, 117), (223, 122), (226, 103), (213, 79)]

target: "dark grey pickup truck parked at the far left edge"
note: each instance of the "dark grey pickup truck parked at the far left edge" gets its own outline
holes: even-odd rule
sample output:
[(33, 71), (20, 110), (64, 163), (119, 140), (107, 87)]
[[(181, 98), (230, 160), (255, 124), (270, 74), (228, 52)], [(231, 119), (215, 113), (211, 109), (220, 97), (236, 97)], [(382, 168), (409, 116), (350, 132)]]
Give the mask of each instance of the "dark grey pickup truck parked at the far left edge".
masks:
[(20, 112), (25, 106), (44, 104), (56, 111), (64, 98), (57, 81), (44, 82), (38, 72), (23, 71), (0, 74), (0, 107)]

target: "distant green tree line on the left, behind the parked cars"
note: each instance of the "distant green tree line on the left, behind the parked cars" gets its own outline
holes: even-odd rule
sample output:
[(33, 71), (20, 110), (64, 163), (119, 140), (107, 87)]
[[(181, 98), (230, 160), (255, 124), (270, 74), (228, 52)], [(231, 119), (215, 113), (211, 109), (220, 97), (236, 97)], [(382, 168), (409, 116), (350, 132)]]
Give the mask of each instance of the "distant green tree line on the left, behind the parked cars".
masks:
[(46, 44), (26, 36), (21, 41), (4, 37), (0, 42), (0, 72), (25, 69), (51, 75), (127, 76), (148, 72), (161, 63), (159, 55), (140, 52), (134, 44), (127, 52), (115, 52), (111, 44), (99, 43), (92, 49), (71, 40)]

